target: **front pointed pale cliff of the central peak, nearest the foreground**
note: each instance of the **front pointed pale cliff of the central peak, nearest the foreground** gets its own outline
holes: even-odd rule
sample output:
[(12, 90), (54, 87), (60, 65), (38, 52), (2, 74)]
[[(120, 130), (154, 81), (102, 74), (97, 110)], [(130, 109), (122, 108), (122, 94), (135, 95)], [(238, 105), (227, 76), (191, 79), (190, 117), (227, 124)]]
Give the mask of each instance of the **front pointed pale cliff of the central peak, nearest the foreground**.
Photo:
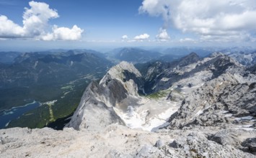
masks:
[(105, 92), (107, 93), (104, 87), (92, 82), (85, 90), (77, 110), (66, 127), (73, 127), (76, 130), (100, 130), (108, 124), (123, 124), (115, 111), (99, 100), (98, 97), (105, 97)]

